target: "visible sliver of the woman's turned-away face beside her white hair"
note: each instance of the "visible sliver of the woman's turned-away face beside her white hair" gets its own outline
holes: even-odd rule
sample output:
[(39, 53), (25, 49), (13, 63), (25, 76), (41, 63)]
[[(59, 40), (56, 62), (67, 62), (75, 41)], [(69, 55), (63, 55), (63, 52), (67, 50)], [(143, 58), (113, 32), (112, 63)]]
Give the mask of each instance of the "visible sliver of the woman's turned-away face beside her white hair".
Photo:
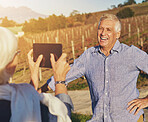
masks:
[(18, 64), (18, 57), (17, 55), (15, 55), (13, 60), (6, 66), (6, 72), (9, 73), (10, 75), (13, 75), (17, 64)]

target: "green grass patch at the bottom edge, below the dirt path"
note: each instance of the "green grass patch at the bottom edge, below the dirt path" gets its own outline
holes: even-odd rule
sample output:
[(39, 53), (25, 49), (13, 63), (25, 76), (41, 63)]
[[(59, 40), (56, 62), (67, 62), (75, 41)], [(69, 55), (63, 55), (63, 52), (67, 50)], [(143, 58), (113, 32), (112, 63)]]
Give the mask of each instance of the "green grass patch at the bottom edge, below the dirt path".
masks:
[(91, 119), (92, 115), (72, 113), (71, 120), (72, 122), (86, 122)]

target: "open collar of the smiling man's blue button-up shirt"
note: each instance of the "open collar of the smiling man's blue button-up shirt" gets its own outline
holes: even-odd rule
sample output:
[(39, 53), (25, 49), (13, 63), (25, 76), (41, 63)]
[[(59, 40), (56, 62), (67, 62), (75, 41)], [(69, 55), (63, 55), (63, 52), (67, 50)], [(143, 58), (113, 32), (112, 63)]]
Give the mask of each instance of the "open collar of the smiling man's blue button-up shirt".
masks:
[[(115, 43), (115, 45), (114, 45), (113, 48), (111, 49), (111, 53), (113, 53), (113, 52), (118, 52), (118, 53), (119, 53), (120, 50), (121, 50), (121, 44), (120, 44), (120, 42), (117, 40), (116, 43)], [(100, 49), (100, 45), (95, 47), (94, 53), (96, 53), (96, 52), (102, 53), (102, 52), (101, 52), (101, 49)]]

